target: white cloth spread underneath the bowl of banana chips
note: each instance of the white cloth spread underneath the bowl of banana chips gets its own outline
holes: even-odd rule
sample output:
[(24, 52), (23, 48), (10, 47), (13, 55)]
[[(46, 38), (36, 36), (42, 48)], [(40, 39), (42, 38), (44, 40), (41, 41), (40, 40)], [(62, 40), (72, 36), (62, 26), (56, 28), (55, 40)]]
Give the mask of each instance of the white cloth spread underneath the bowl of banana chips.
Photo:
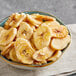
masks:
[(69, 24), (67, 27), (72, 36), (71, 45), (54, 64), (42, 70), (27, 71), (11, 67), (0, 59), (0, 76), (60, 76), (60, 73), (76, 71), (76, 24)]

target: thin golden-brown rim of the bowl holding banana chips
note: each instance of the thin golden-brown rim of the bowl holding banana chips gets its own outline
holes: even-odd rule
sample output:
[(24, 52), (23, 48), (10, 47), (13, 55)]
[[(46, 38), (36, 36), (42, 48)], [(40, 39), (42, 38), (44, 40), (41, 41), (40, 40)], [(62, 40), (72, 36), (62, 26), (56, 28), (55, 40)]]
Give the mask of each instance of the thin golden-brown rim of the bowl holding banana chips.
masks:
[[(54, 16), (54, 15), (52, 15), (52, 14), (49, 14), (49, 13), (45, 13), (45, 12), (42, 12), (42, 11), (23, 11), (23, 12), (19, 12), (19, 13), (30, 13), (30, 12), (33, 12), (33, 13), (43, 13), (43, 14), (46, 14), (46, 15), (49, 15), (49, 16), (52, 16), (52, 17), (54, 17), (60, 24), (63, 24), (62, 23), (62, 21), (59, 19), (59, 18), (57, 18), (56, 16)], [(3, 19), (1, 19), (0, 20), (0, 25), (2, 24), (2, 22), (5, 20), (5, 19), (7, 19), (9, 16), (7, 16), (7, 17), (5, 17), (5, 18), (3, 18)], [(64, 24), (63, 24), (64, 25)], [(67, 28), (68, 29), (68, 28)], [(69, 31), (69, 30), (68, 30)], [(69, 35), (71, 36), (71, 34), (70, 34), (70, 31), (69, 31)], [(65, 52), (65, 50), (66, 49), (68, 49), (68, 47), (70, 46), (70, 44), (71, 44), (71, 41), (70, 41), (70, 43), (67, 45), (67, 47), (64, 49), (64, 52)], [(64, 54), (64, 52), (62, 53), (62, 55)], [(61, 55), (61, 56), (62, 56)], [(58, 61), (60, 58), (61, 58), (61, 56), (56, 60), (56, 61)], [(0, 54), (0, 58), (2, 59), (2, 60), (4, 60), (6, 63), (8, 63), (8, 64), (11, 64), (11, 65), (19, 65), (19, 66), (26, 66), (26, 67), (38, 67), (38, 68), (40, 68), (40, 67), (45, 67), (45, 66), (48, 66), (48, 65), (51, 65), (51, 64), (53, 64), (53, 63), (55, 63), (56, 61), (50, 61), (49, 63), (46, 63), (46, 64), (43, 64), (43, 65), (32, 65), (32, 64), (22, 64), (22, 63), (18, 63), (18, 62), (14, 62), (14, 61), (10, 61), (10, 60), (8, 60), (7, 58), (5, 58), (4, 56), (2, 56), (1, 54)]]

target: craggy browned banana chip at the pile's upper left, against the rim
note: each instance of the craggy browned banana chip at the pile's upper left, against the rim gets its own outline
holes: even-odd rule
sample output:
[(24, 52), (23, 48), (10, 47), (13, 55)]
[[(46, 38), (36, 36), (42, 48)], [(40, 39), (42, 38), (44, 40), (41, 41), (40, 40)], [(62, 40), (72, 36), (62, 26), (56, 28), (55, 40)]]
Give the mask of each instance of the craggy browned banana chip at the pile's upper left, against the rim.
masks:
[(9, 29), (10, 27), (18, 27), (25, 18), (26, 15), (24, 13), (13, 13), (5, 23), (4, 28)]

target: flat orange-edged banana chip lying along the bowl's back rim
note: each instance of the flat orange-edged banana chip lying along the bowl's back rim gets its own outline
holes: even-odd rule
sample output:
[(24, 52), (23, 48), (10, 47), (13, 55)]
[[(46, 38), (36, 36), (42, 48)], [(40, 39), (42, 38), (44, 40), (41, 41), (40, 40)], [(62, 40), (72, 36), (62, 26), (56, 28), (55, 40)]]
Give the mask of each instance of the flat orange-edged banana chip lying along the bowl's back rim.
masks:
[(55, 18), (53, 18), (51, 16), (40, 15), (40, 14), (32, 14), (32, 17), (35, 19), (39, 19), (39, 20), (47, 20), (47, 21), (54, 21), (55, 20)]

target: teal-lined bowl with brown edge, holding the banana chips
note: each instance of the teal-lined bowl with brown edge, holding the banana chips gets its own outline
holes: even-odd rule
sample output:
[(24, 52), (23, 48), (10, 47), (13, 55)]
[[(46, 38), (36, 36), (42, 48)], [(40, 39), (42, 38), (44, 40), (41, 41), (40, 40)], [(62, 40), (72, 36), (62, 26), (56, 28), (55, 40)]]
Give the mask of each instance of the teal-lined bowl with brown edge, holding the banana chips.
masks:
[[(22, 13), (22, 12), (21, 12)], [(34, 13), (39, 13), (39, 14), (42, 14), (42, 15), (48, 15), (48, 16), (51, 16), (51, 17), (54, 17), (55, 19), (56, 19), (56, 21), (58, 21), (61, 25), (64, 25), (63, 23), (62, 23), (62, 21), (60, 21), (58, 18), (56, 18), (55, 16), (53, 16), (53, 15), (51, 15), (51, 14), (48, 14), (48, 13), (44, 13), (44, 12), (39, 12), (39, 11), (25, 11), (25, 12), (23, 12), (23, 13), (25, 13), (25, 14), (34, 14)], [(8, 17), (6, 17), (6, 18), (4, 18), (4, 19), (2, 19), (1, 21), (0, 21), (0, 26), (4, 26), (4, 24), (5, 24), (5, 22), (7, 21), (7, 19), (8, 19)], [(65, 26), (65, 25), (64, 25)], [(70, 35), (70, 32), (69, 32), (69, 35)], [(69, 43), (70, 44), (70, 43)], [(69, 47), (69, 44), (67, 45), (67, 47), (66, 48), (68, 48)], [(64, 53), (64, 51), (66, 50), (66, 48), (64, 48), (63, 50), (62, 50), (62, 54)], [(22, 64), (22, 63), (17, 63), (17, 62), (14, 62), (14, 61), (11, 61), (11, 60), (8, 60), (8, 59), (6, 59), (5, 57), (3, 57), (1, 54), (0, 54), (0, 58), (2, 59), (2, 60), (4, 60), (6, 63), (8, 63), (8, 64), (10, 64), (10, 65), (12, 65), (12, 66), (14, 66), (14, 67), (17, 67), (17, 68), (21, 68), (21, 69), (29, 69), (29, 70), (35, 70), (35, 69), (42, 69), (42, 68), (44, 68), (44, 67), (48, 67), (48, 65), (51, 65), (51, 64), (53, 64), (54, 62), (56, 62), (56, 61), (50, 61), (50, 62), (48, 62), (47, 64), (42, 64), (42, 65), (28, 65), (28, 64)]]

